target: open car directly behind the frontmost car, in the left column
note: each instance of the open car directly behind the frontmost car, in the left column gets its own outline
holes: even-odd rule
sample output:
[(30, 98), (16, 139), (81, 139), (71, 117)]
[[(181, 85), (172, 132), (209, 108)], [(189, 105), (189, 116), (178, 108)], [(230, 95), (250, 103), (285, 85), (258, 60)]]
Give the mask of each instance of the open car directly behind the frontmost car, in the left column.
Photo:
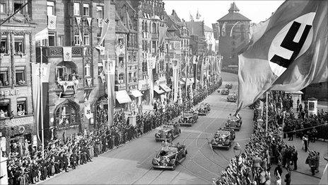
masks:
[(160, 130), (155, 133), (155, 140), (158, 141), (168, 141), (172, 142), (175, 138), (177, 138), (181, 133), (181, 129), (179, 124), (177, 123), (167, 123), (165, 125), (160, 126)]

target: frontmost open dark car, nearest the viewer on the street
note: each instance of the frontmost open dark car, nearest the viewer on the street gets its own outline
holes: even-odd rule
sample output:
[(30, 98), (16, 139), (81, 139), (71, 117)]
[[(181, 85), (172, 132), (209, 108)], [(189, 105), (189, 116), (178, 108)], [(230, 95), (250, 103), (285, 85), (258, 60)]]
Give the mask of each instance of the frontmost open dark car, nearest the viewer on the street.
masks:
[(175, 170), (177, 164), (181, 163), (187, 156), (185, 145), (168, 145), (160, 149), (153, 158), (153, 169), (171, 169)]

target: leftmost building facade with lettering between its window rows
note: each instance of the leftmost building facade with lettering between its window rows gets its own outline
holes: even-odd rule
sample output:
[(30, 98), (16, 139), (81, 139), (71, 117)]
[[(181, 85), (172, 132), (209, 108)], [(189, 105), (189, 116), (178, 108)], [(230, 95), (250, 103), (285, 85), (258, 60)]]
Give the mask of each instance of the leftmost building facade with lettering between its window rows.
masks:
[[(25, 140), (36, 145), (30, 63), (35, 62), (35, 23), (26, 1), (0, 1), (0, 138), (11, 144)], [(34, 142), (33, 142), (34, 141)]]

